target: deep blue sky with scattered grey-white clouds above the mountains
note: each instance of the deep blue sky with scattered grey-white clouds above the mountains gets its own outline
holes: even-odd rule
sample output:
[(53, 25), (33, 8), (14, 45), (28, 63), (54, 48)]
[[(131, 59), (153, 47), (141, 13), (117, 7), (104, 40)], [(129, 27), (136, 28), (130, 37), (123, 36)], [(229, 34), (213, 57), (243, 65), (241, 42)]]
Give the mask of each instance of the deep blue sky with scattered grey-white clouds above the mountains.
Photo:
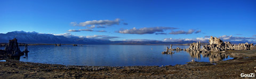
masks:
[(110, 40), (256, 40), (255, 0), (0, 1), (0, 33)]

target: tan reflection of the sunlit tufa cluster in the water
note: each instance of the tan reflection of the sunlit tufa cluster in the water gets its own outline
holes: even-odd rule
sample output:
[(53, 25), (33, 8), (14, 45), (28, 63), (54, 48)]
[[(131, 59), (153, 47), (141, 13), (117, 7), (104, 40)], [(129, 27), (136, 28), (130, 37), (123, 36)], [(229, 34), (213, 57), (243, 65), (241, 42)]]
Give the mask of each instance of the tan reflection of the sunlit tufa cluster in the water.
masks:
[(188, 51), (189, 55), (193, 58), (201, 59), (203, 57), (209, 57), (210, 62), (219, 62), (220, 60), (228, 58), (228, 55), (221, 52), (193, 52)]

